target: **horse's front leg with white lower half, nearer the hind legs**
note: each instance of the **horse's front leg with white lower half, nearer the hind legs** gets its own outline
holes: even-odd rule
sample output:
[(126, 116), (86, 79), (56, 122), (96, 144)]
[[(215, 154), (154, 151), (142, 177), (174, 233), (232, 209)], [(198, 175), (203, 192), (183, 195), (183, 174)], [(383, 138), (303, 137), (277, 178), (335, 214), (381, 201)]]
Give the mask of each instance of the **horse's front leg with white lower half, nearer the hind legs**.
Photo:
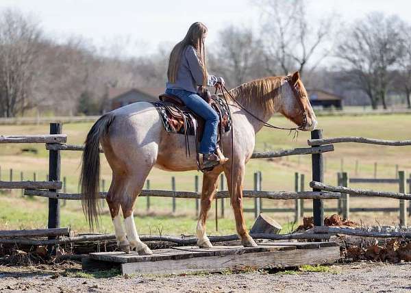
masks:
[(212, 199), (221, 173), (221, 168), (214, 168), (203, 175), (203, 188), (201, 190), (201, 210), (199, 222), (197, 223), (197, 244), (201, 248), (210, 248), (212, 244), (206, 235), (206, 220), (210, 210)]

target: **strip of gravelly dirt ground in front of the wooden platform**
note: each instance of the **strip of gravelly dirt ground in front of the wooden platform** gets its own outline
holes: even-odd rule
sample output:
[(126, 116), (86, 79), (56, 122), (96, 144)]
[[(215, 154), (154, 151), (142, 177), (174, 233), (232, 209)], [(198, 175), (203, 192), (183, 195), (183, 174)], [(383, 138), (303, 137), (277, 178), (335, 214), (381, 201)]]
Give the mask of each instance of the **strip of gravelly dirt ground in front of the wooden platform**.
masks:
[[(76, 273), (77, 271), (77, 273)], [(0, 266), (0, 292), (409, 292), (411, 263), (336, 264), (325, 272), (82, 276), (79, 264)]]

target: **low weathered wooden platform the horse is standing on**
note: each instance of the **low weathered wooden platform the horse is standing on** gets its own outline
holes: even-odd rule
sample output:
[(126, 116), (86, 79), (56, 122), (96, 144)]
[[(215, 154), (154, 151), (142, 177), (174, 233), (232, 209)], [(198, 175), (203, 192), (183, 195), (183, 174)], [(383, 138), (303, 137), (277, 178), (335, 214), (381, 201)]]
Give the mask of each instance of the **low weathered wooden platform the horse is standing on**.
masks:
[(90, 253), (82, 260), (84, 270), (119, 267), (124, 274), (179, 274), (219, 272), (243, 268), (286, 268), (303, 264), (330, 264), (340, 258), (334, 242), (270, 242), (258, 247), (179, 246), (157, 249), (153, 255), (136, 252)]

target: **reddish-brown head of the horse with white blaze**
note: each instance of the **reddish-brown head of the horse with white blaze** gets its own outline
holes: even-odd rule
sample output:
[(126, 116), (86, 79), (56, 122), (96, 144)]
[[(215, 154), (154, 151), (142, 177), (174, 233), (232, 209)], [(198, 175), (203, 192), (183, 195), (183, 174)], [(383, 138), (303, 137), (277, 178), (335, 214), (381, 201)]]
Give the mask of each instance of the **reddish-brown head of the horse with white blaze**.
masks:
[(299, 77), (298, 71), (292, 75), (286, 76), (285, 87), (283, 92), (282, 114), (298, 125), (302, 131), (311, 131), (316, 128), (317, 120), (312, 110), (306, 88)]

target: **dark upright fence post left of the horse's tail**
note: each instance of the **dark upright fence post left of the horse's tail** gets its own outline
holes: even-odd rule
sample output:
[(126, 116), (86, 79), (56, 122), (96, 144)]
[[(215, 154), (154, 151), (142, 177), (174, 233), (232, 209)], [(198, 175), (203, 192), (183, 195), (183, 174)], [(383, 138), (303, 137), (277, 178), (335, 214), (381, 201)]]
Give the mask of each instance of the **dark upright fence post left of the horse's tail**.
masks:
[[(50, 123), (50, 134), (61, 134), (62, 124)], [(61, 156), (60, 151), (49, 151), (49, 181), (60, 180)], [(51, 189), (51, 192), (57, 190)], [(60, 205), (58, 199), (49, 199), (49, 228), (60, 227)], [(53, 237), (51, 237), (52, 239)]]

